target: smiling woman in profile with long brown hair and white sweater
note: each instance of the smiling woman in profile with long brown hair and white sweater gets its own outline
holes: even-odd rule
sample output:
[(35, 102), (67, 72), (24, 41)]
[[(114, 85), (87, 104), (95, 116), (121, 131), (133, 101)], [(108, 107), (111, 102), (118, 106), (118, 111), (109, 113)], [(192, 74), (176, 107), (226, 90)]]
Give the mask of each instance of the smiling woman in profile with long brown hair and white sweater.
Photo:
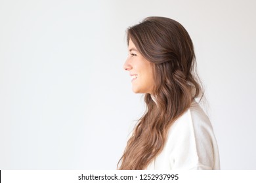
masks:
[(219, 151), (194, 72), (194, 48), (175, 20), (148, 17), (127, 31), (124, 69), (147, 110), (131, 135), (118, 169), (220, 169)]

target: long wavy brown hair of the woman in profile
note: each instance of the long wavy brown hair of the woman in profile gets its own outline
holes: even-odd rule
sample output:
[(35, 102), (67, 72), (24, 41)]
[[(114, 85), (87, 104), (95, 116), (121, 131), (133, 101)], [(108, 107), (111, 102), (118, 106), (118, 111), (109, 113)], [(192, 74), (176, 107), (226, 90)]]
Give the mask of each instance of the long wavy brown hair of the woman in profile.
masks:
[(127, 42), (151, 62), (152, 93), (144, 95), (146, 112), (127, 142), (117, 169), (146, 169), (160, 154), (171, 124), (179, 118), (202, 88), (196, 75), (192, 40), (184, 27), (170, 18), (148, 17), (127, 29)]

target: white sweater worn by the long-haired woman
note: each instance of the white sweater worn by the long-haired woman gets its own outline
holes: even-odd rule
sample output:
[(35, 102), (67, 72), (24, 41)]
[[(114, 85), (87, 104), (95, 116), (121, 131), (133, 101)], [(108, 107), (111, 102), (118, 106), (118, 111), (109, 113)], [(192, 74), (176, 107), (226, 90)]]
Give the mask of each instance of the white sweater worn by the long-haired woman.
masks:
[(162, 152), (146, 169), (220, 169), (213, 127), (198, 103), (171, 125)]

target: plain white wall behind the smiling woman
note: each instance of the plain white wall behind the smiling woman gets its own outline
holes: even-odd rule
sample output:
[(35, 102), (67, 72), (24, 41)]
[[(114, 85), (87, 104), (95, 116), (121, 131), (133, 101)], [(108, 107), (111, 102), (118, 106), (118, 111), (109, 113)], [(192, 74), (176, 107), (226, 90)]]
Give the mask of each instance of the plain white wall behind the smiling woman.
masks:
[(255, 1), (0, 0), (0, 169), (116, 169), (144, 112), (125, 29), (180, 22), (194, 42), (222, 169), (256, 169)]

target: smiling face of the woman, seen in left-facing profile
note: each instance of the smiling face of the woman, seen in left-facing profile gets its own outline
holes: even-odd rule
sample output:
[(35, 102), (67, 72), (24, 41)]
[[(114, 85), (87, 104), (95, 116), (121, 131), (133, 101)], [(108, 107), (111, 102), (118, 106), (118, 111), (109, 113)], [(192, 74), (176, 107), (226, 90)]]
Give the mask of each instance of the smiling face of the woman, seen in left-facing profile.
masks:
[(137, 50), (131, 39), (128, 46), (129, 56), (123, 65), (125, 71), (129, 71), (133, 92), (152, 93), (154, 78), (151, 63)]

